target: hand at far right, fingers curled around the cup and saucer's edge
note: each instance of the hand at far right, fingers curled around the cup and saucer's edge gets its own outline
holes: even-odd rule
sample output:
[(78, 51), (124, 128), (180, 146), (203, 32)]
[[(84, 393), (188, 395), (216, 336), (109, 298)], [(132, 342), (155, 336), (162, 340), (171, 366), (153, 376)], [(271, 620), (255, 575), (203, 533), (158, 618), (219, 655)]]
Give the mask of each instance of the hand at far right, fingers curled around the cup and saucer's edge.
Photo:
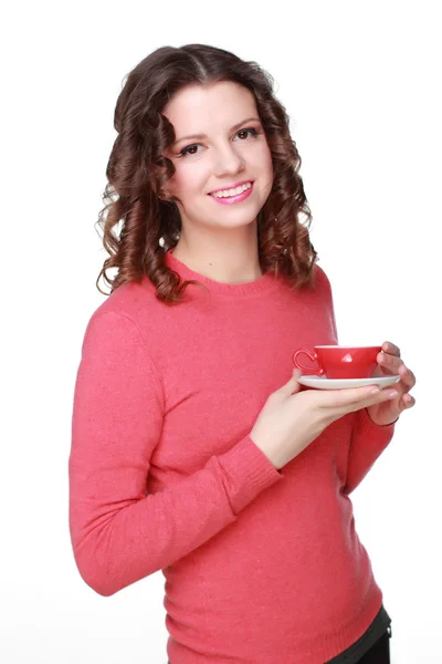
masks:
[(378, 363), (375, 371), (377, 376), (399, 375), (400, 381), (385, 387), (385, 390), (396, 390), (398, 396), (380, 404), (367, 406), (367, 413), (375, 424), (386, 426), (392, 424), (406, 408), (411, 408), (415, 404), (415, 398), (409, 394), (415, 385), (415, 377), (402, 362), (400, 350), (393, 343), (386, 341), (382, 344), (382, 353), (378, 354)]

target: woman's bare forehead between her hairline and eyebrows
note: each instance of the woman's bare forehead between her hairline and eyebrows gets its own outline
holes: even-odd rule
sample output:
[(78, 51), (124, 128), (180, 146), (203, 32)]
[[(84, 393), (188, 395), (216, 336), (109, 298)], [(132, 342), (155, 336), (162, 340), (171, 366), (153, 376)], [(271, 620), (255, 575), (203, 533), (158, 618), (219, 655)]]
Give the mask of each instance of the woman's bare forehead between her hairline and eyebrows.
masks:
[(209, 133), (217, 125), (229, 128), (241, 117), (256, 115), (253, 94), (231, 81), (207, 86), (188, 85), (168, 102), (162, 114), (176, 133)]

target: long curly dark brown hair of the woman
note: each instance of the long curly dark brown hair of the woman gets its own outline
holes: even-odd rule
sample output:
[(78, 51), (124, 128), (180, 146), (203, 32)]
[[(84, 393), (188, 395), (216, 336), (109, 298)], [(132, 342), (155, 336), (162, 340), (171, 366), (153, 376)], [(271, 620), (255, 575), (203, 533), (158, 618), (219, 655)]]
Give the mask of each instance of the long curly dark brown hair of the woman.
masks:
[[(190, 283), (165, 263), (166, 251), (180, 237), (181, 218), (176, 200), (164, 200), (165, 185), (175, 174), (164, 152), (176, 141), (173, 125), (161, 114), (181, 89), (221, 81), (239, 83), (252, 92), (273, 162), (273, 186), (256, 218), (259, 260), (262, 272), (284, 274), (293, 288), (311, 286), (317, 252), (309, 240), (312, 214), (299, 176), (301, 156), (288, 129), (288, 115), (273, 92), (274, 80), (256, 62), (206, 44), (161, 46), (141, 60), (127, 75), (114, 115), (118, 132), (106, 168), (106, 206), (98, 224), (103, 245), (110, 255), (103, 276), (110, 292), (125, 282), (147, 276), (156, 298), (167, 304), (183, 300)], [(301, 215), (305, 216), (304, 222)], [(119, 237), (113, 232), (122, 221)], [(106, 271), (118, 268), (109, 279)]]

